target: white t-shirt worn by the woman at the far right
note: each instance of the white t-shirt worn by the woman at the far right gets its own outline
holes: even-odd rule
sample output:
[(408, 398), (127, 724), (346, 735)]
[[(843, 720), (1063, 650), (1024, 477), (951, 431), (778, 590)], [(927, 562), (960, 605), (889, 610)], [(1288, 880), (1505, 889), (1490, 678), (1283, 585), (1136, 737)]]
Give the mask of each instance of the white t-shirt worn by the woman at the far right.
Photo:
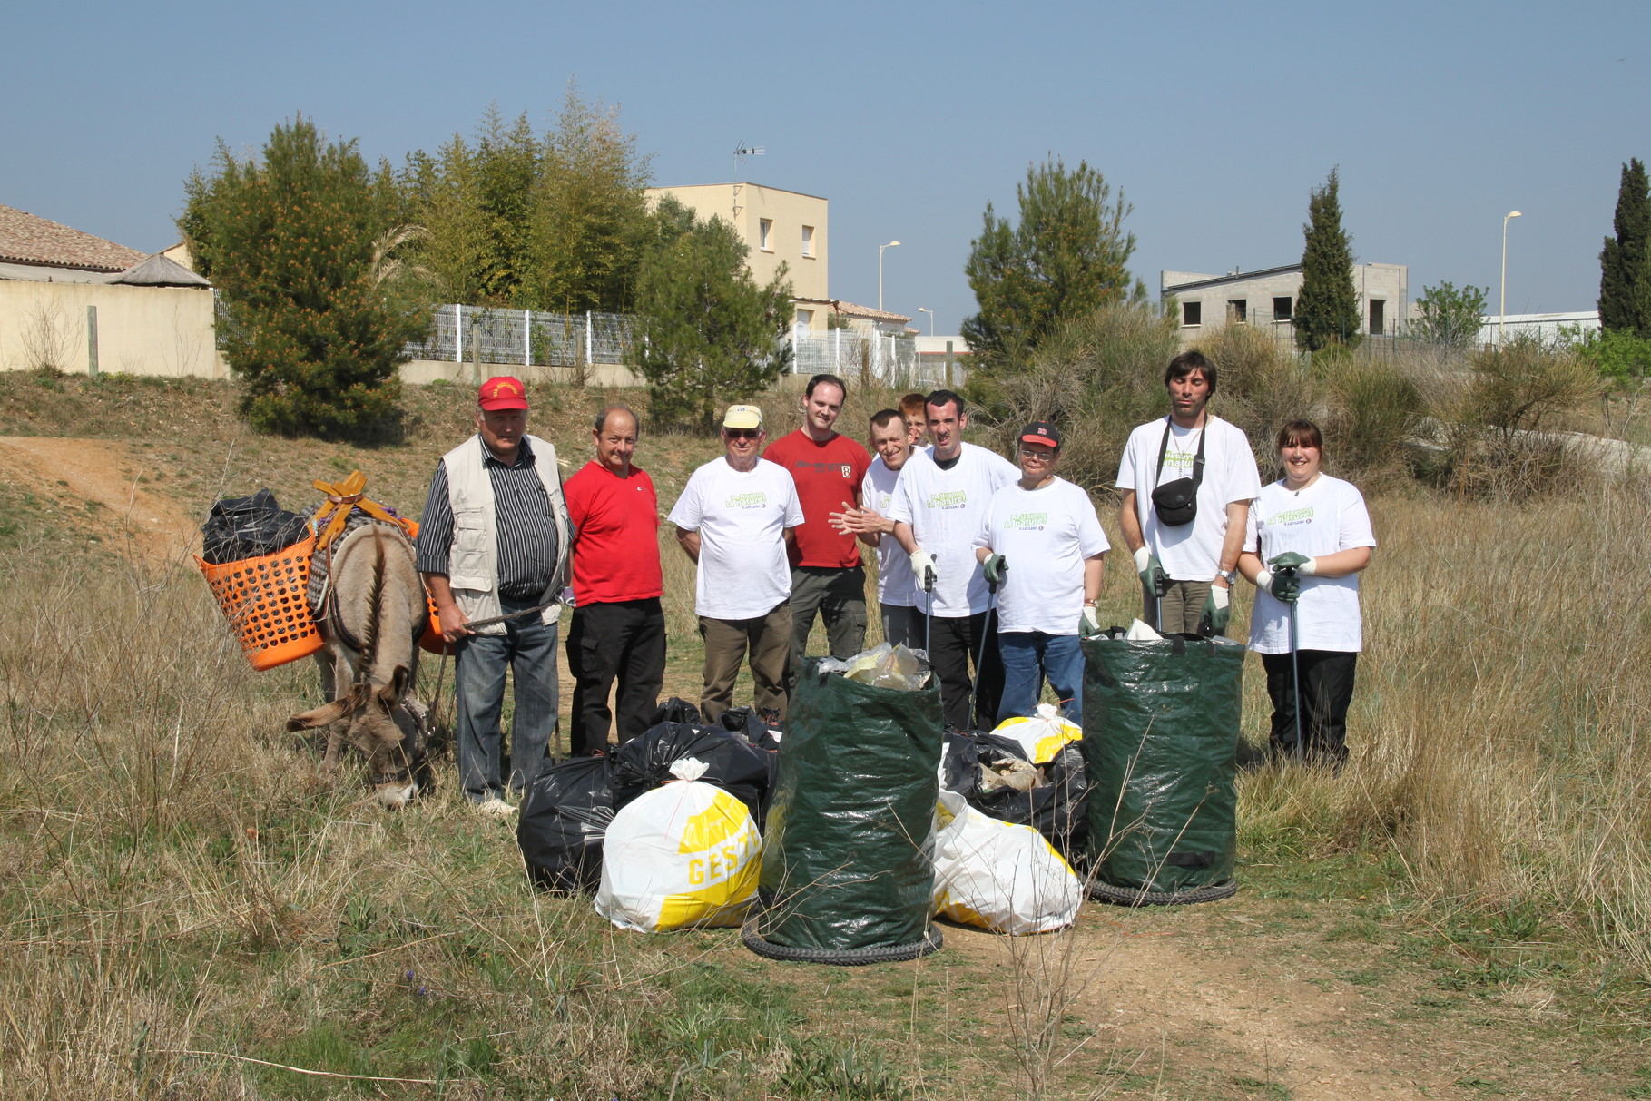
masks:
[[(1250, 505), (1245, 550), (1265, 563), (1284, 551), (1308, 558), (1334, 555), (1354, 546), (1375, 546), (1370, 512), (1364, 495), (1351, 484), (1321, 474), (1299, 494), (1273, 482)], [(1289, 654), (1289, 606), (1265, 589), (1255, 593), (1250, 614), (1250, 649), (1256, 654)], [(1296, 647), (1303, 650), (1364, 649), (1359, 622), (1359, 574), (1346, 578), (1301, 578), (1296, 601)]]

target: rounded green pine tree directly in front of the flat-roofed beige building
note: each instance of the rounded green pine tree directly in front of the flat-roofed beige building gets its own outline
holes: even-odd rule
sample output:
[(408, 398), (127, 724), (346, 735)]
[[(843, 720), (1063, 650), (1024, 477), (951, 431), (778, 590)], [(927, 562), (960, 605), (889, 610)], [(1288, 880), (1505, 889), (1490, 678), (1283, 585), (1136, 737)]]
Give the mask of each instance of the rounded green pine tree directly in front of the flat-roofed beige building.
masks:
[(771, 386), (791, 361), (791, 312), (784, 266), (758, 286), (733, 226), (665, 196), (637, 286), (637, 358), (654, 418), (708, 426), (721, 403)]

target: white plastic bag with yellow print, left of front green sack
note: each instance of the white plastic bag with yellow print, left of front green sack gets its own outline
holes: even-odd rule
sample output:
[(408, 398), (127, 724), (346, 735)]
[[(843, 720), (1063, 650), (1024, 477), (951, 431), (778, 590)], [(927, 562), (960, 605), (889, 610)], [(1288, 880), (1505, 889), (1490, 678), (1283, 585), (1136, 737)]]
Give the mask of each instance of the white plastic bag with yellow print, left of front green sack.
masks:
[(763, 839), (743, 802), (697, 782), (705, 768), (677, 761), (677, 781), (637, 796), (608, 825), (596, 913), (621, 929), (736, 926), (756, 898)]

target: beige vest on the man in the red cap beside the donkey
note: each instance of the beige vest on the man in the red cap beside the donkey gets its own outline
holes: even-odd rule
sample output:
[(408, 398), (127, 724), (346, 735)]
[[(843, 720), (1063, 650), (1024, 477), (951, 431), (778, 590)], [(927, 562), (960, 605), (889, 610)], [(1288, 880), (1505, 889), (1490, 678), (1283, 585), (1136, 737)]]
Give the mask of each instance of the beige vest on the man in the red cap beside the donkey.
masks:
[[(561, 475), (556, 470), (556, 449), (538, 436), (525, 436), (533, 449), (533, 470), (550, 494), (556, 527), (561, 538), (556, 545), (556, 566), (546, 596), (550, 607), (540, 612), (540, 622), (553, 624), (561, 614), (561, 593), (568, 576), (568, 548), (573, 543), (573, 525), (568, 522), (568, 502), (561, 497)], [(441, 457), (447, 469), (447, 503), (452, 505), (452, 545), (447, 548), (447, 584), (452, 601), (466, 619), (492, 619), (504, 612), (499, 602), (499, 515), (494, 505), (494, 484), (482, 465), (485, 444), (480, 434)], [(475, 634), (504, 634), (504, 624), (477, 627)]]

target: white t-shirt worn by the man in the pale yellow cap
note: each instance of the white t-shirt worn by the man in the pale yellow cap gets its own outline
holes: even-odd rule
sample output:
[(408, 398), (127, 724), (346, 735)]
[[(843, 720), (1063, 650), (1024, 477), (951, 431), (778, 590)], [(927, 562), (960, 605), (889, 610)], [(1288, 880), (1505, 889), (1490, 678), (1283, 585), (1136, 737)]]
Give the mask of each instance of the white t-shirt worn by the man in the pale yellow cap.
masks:
[(802, 505), (784, 467), (735, 470), (726, 457), (713, 459), (688, 477), (670, 522), (700, 533), (697, 614), (758, 619), (791, 599), (786, 528), (802, 523)]

